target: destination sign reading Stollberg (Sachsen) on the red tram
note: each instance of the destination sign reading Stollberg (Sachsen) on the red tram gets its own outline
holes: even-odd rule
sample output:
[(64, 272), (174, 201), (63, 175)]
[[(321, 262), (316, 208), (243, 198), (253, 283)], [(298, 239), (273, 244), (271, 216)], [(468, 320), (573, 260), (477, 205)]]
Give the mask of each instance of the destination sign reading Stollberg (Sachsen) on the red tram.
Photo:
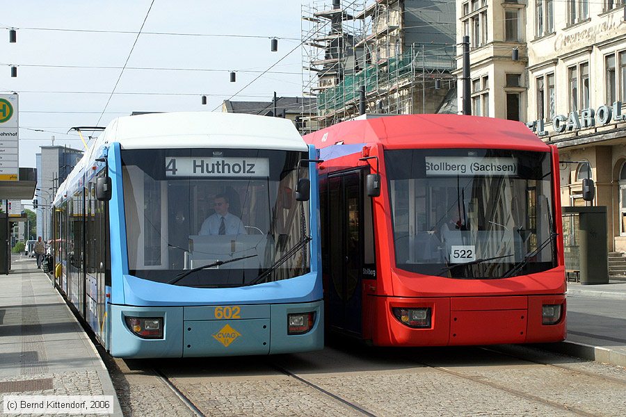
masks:
[(517, 175), (517, 158), (426, 156), (426, 177), (474, 177)]

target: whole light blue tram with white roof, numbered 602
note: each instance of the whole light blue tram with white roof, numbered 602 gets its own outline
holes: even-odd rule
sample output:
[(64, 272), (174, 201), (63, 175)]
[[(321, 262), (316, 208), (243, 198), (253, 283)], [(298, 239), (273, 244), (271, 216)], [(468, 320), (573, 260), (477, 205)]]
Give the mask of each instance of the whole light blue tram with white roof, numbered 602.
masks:
[(114, 357), (323, 347), (316, 152), (289, 120), (113, 120), (54, 199), (54, 279)]

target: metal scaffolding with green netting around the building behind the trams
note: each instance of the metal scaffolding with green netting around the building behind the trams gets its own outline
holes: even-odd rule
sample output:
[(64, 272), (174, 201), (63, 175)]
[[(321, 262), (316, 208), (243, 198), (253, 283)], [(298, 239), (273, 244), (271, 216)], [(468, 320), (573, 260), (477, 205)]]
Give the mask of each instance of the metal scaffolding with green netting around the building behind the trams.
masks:
[(358, 115), (362, 87), (367, 113), (438, 111), (456, 83), (456, 46), (408, 42), (415, 35), (404, 3), (312, 0), (303, 6), (303, 93), (317, 99), (316, 113), (308, 115), (316, 126)]

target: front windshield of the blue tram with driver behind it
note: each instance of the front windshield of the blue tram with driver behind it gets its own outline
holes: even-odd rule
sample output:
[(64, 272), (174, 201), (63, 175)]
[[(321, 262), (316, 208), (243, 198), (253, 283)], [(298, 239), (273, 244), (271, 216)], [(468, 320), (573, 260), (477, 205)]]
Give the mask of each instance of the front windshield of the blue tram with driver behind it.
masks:
[(122, 150), (130, 274), (218, 288), (309, 272), (310, 211), (295, 199), (298, 178), (308, 177), (307, 164), (298, 170), (303, 158), (263, 149)]

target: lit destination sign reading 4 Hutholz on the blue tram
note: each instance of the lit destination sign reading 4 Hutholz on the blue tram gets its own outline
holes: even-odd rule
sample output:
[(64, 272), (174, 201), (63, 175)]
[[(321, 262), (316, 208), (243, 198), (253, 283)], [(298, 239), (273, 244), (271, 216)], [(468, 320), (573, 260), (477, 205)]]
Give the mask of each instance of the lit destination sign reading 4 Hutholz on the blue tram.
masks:
[(166, 177), (269, 177), (268, 158), (168, 156)]

